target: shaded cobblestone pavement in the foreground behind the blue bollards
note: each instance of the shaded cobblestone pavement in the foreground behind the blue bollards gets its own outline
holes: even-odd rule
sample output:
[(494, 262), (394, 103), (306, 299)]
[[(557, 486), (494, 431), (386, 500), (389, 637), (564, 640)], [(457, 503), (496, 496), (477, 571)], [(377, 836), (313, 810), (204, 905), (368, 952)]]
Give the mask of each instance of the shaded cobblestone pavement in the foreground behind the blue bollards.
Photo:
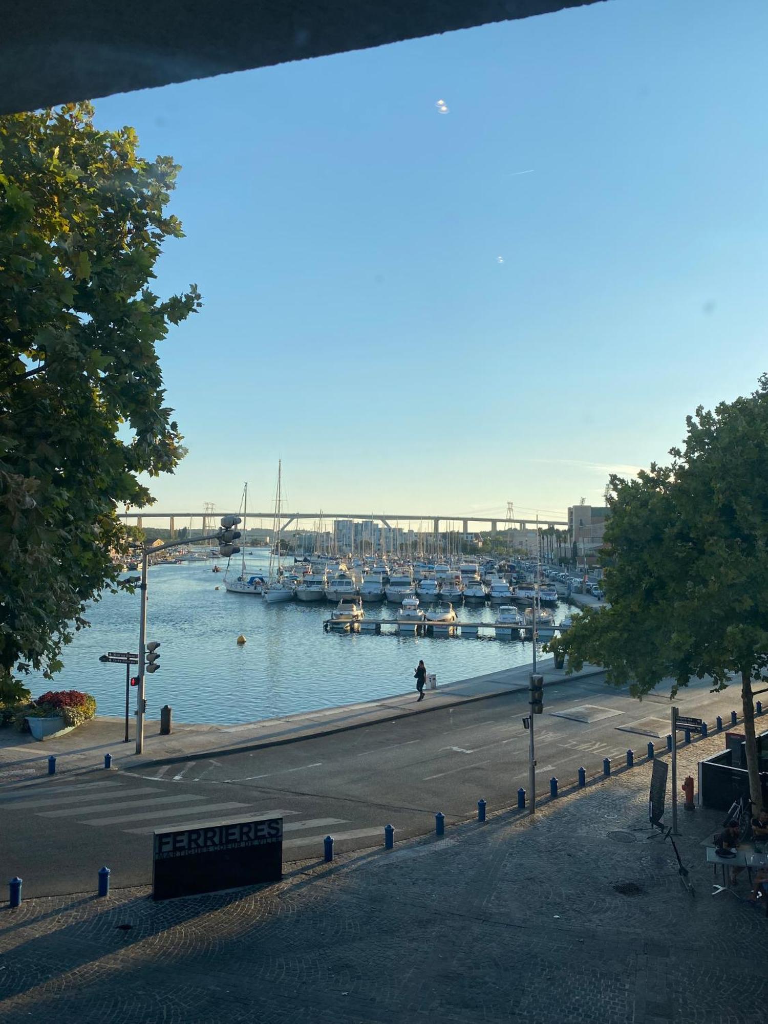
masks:
[[(684, 749), (681, 781), (721, 746)], [(6, 905), (0, 1021), (764, 1020), (768, 920), (743, 902), (745, 880), (741, 898), (713, 898), (703, 862), (721, 816), (680, 812), (691, 898), (671, 845), (647, 838), (649, 776), (640, 765), (535, 820), (506, 812), (292, 865), (271, 887)]]

